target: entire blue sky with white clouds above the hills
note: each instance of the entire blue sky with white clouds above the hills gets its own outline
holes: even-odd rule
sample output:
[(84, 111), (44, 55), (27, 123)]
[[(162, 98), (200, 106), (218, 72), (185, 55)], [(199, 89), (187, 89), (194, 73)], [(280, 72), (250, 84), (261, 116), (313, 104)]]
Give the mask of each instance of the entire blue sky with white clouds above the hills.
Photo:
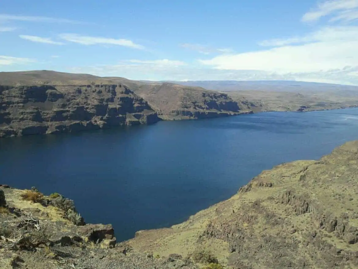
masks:
[(11, 0), (0, 71), (358, 85), (358, 0)]

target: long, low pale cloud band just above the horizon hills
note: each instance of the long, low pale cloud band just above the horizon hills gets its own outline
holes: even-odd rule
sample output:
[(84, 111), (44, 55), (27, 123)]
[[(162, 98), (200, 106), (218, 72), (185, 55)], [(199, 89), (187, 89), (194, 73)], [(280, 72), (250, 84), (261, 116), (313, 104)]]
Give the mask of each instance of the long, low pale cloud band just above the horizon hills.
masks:
[(120, 76), (133, 80), (296, 80), (358, 85), (358, 69), (279, 74), (261, 70), (218, 70), (209, 67), (159, 66), (122, 62), (120, 65), (69, 67), (66, 72)]

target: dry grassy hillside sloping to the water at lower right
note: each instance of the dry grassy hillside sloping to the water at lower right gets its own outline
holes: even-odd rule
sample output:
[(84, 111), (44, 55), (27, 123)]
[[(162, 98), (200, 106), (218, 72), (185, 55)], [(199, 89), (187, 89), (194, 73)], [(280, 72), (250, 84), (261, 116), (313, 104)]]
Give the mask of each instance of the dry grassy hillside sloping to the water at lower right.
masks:
[(358, 141), (263, 171), (230, 199), (128, 244), (154, 255), (210, 251), (228, 268), (357, 268)]

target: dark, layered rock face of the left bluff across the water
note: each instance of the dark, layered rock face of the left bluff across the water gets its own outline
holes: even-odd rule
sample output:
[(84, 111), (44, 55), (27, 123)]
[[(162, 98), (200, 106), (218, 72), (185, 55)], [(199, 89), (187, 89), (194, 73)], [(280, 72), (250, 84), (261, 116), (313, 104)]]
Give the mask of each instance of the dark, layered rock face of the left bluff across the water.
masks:
[(0, 137), (157, 121), (150, 105), (122, 84), (0, 86)]

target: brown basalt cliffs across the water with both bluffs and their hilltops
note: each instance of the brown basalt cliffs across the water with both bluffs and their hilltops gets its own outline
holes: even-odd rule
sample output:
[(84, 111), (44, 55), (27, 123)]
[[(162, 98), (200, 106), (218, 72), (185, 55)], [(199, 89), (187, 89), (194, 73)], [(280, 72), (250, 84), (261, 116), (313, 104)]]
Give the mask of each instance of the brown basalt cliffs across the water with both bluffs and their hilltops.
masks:
[(227, 94), (121, 77), (0, 72), (0, 137), (74, 132), (243, 111)]

